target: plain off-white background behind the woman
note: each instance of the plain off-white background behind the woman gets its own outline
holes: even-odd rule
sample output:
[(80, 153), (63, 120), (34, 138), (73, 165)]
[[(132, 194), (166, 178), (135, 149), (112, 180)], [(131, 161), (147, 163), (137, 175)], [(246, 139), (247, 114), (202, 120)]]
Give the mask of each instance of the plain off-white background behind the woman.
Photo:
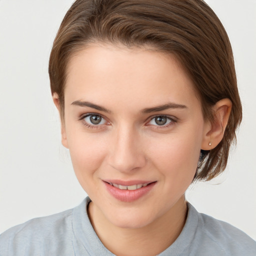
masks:
[[(50, 48), (72, 0), (0, 0), (0, 232), (77, 205), (86, 195), (68, 151), (47, 74)], [(226, 171), (187, 199), (256, 239), (256, 1), (208, 0), (234, 51), (243, 123)]]

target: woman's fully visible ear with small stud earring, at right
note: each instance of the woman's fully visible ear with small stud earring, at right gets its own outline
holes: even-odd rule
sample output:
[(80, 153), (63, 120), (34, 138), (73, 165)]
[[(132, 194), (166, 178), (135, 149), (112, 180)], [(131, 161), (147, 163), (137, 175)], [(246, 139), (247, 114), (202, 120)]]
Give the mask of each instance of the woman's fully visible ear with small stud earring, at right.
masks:
[(213, 106), (213, 122), (205, 122), (204, 136), (201, 149), (210, 150), (214, 148), (223, 138), (227, 121), (230, 115), (232, 102), (229, 98), (223, 98)]

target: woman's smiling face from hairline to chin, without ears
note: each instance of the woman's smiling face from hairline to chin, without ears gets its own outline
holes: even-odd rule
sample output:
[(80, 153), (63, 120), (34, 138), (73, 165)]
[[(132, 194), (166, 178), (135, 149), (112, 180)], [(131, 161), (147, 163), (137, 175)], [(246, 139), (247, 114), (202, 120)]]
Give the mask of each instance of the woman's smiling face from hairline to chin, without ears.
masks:
[(95, 212), (119, 227), (172, 210), (195, 174), (208, 128), (171, 55), (91, 45), (68, 64), (62, 143)]

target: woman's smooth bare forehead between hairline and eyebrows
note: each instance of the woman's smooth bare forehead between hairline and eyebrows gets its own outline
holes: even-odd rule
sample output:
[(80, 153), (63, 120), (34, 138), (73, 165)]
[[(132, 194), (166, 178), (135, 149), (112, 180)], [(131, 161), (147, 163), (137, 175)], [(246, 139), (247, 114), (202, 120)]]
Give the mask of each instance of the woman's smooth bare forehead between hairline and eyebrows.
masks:
[(91, 45), (70, 58), (64, 95), (65, 101), (89, 97), (141, 108), (148, 101), (197, 101), (193, 83), (174, 55), (108, 44)]

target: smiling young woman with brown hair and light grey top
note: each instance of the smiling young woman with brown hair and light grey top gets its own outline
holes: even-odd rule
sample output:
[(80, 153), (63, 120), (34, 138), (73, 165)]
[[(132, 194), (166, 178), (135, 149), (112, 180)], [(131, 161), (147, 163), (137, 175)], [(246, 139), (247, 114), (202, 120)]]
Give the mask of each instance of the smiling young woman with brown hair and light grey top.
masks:
[(241, 120), (231, 46), (203, 1), (77, 0), (49, 76), (89, 197), (6, 231), (1, 254), (255, 254), (251, 238), (184, 198), (223, 171)]

